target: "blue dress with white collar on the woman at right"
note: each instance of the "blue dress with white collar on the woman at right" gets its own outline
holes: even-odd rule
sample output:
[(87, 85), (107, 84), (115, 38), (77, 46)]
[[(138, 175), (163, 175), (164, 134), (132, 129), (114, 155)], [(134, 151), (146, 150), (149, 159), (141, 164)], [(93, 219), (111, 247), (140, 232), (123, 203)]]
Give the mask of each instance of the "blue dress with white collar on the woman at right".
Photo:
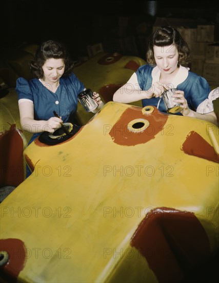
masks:
[[(161, 71), (157, 66), (143, 65), (131, 76), (127, 83), (133, 85), (134, 89), (149, 90), (151, 85), (160, 80)], [(169, 87), (170, 88), (170, 87)], [(199, 104), (208, 98), (210, 93), (210, 86), (205, 78), (198, 76), (189, 71), (188, 68), (180, 66), (177, 75), (171, 83), (171, 88), (184, 91), (185, 98), (191, 110), (196, 111)], [(142, 105), (152, 105), (157, 107), (159, 98), (152, 97), (150, 99), (143, 99)], [(161, 99), (158, 109), (161, 112), (167, 112), (164, 100)], [(182, 115), (181, 113), (176, 113)]]

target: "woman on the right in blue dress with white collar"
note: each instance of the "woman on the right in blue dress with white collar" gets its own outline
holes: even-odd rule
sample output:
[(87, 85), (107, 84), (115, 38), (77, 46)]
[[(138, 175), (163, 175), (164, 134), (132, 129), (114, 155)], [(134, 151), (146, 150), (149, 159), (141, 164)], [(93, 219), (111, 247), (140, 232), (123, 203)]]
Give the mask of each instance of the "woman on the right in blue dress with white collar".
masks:
[[(205, 78), (190, 72), (190, 50), (181, 34), (172, 27), (162, 26), (153, 32), (146, 53), (147, 64), (139, 67), (128, 82), (118, 89), (113, 101), (131, 103), (142, 100), (142, 105), (153, 105), (167, 112), (161, 94), (177, 89), (174, 102), (181, 103), (177, 115), (208, 120), (217, 124), (213, 103), (198, 107), (208, 99), (210, 86)], [(203, 103), (202, 103), (203, 105)]]

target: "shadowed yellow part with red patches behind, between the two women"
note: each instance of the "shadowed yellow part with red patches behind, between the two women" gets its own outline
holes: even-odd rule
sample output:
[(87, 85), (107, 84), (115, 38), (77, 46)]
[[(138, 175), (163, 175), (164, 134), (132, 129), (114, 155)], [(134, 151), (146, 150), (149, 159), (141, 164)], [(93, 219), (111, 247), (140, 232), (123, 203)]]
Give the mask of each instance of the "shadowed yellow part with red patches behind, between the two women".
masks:
[[(140, 57), (100, 52), (88, 61), (75, 65), (74, 73), (88, 89), (99, 93), (103, 102), (108, 102), (112, 101), (118, 87), (125, 84), (135, 70), (144, 64), (146, 61)], [(142, 107), (141, 101), (132, 104)], [(81, 103), (78, 103), (76, 116), (78, 122), (85, 125), (93, 113), (85, 113)]]

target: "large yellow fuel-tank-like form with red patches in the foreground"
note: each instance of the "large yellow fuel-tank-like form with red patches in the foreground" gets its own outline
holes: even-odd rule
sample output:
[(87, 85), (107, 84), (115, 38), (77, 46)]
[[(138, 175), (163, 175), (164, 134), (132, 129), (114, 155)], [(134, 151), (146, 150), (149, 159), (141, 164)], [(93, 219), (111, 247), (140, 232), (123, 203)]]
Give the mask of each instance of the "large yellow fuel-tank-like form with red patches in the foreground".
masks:
[(108, 102), (68, 140), (37, 138), (25, 156), (33, 173), (1, 203), (0, 246), (18, 282), (180, 281), (218, 248), (209, 122)]

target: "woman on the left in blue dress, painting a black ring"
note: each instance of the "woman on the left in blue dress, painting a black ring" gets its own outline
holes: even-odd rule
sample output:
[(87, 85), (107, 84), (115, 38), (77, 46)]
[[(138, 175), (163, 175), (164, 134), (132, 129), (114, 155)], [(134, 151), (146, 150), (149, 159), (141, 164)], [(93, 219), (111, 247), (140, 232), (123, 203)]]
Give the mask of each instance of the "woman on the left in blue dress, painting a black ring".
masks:
[[(46, 41), (36, 50), (30, 68), (36, 77), (27, 81), (18, 78), (16, 92), (21, 126), (33, 133), (29, 144), (42, 132), (53, 133), (63, 122), (72, 122), (77, 110), (77, 95), (85, 85), (73, 73), (73, 61), (62, 43)], [(96, 92), (98, 107), (103, 102)], [(57, 115), (55, 115), (57, 114)]]

